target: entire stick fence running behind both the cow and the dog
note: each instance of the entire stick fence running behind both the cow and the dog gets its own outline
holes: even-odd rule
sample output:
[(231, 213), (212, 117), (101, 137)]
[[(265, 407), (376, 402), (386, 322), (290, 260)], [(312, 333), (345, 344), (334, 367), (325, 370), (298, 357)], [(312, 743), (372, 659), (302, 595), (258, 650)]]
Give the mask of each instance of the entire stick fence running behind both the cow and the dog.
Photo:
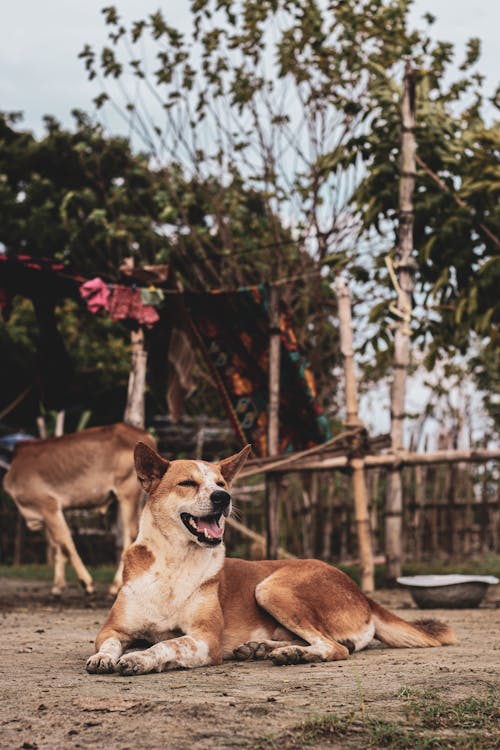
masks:
[[(333, 460), (333, 459), (330, 459)], [(385, 549), (387, 469), (365, 472), (375, 558)], [(464, 560), (488, 552), (500, 554), (498, 468), (482, 464), (406, 466), (402, 470), (403, 551), (408, 562)], [(330, 562), (358, 559), (353, 485), (349, 469), (277, 473), (280, 554), (319, 557)], [(243, 479), (235, 490), (236, 522), (226, 532), (230, 554), (265, 554), (265, 483)], [(67, 514), (88, 564), (113, 563), (113, 518), (82, 511)], [(0, 498), (0, 563), (45, 562), (43, 532), (19, 525), (18, 512)], [(251, 530), (251, 531), (250, 531)], [(430, 568), (431, 569), (431, 568)]]

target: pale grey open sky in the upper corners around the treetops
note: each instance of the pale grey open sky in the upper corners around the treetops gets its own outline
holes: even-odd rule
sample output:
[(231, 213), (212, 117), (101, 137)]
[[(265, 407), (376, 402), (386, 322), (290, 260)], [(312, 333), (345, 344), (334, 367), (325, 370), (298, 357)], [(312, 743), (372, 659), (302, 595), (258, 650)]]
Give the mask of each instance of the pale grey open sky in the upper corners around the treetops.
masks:
[[(99, 48), (105, 42), (100, 9), (113, 0), (15, 0), (0, 10), (0, 109), (24, 112), (25, 127), (43, 131), (43, 115), (70, 125), (71, 110), (92, 111), (97, 87), (87, 81), (78, 53), (86, 42)], [(181, 29), (189, 25), (187, 0), (115, 0), (124, 19), (143, 18), (161, 7), (167, 20)], [(453, 42), (458, 62), (471, 36), (482, 40), (481, 70), (492, 93), (498, 81), (498, 0), (415, 0), (412, 22), (426, 12), (437, 20), (433, 34)], [(116, 131), (119, 121), (108, 120)]]

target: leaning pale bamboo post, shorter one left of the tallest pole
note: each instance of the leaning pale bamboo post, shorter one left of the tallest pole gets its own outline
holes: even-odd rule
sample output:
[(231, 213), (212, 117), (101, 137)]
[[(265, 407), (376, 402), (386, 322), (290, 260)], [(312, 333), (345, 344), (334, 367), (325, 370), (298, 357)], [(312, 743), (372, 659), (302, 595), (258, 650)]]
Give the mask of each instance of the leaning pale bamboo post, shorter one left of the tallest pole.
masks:
[[(362, 426), (363, 423), (358, 415), (358, 392), (352, 344), (351, 298), (347, 281), (342, 276), (337, 278), (336, 292), (339, 309), (340, 350), (344, 359), (347, 411), (345, 424), (346, 427), (359, 427)], [(368, 515), (365, 463), (363, 458), (353, 458), (350, 465), (352, 468), (354, 516), (356, 520), (356, 536), (361, 568), (361, 589), (368, 594), (374, 590), (375, 578), (370, 520)]]

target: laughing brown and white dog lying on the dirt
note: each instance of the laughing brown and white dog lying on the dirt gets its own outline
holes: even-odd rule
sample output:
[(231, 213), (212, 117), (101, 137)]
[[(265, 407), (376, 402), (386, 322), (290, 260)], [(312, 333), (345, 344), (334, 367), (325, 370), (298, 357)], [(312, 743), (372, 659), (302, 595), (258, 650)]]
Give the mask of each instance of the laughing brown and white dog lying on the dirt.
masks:
[[(136, 446), (149, 498), (88, 672), (145, 674), (223, 658), (333, 661), (373, 637), (396, 648), (455, 643), (447, 625), (405, 622), (319, 560), (225, 559), (229, 489), (249, 450), (219, 464), (169, 463), (147, 445)], [(154, 645), (124, 654), (136, 640)]]

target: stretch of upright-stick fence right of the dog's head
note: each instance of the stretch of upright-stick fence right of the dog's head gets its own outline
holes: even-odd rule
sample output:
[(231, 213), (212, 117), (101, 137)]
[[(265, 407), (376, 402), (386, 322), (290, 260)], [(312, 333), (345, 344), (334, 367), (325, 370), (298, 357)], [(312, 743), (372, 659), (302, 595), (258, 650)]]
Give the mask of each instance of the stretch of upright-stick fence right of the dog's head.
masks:
[[(407, 466), (402, 470), (403, 551), (407, 561), (461, 560), (500, 553), (498, 472), (492, 463)], [(331, 562), (358, 558), (353, 485), (349, 471), (302, 471), (279, 475), (279, 545), (298, 557)], [(387, 469), (366, 471), (374, 554), (385, 550)], [(241, 554), (263, 556), (263, 484), (236, 492), (240, 526), (229, 532), (229, 546)], [(242, 533), (243, 532), (243, 533)], [(255, 533), (256, 532), (256, 533)]]

